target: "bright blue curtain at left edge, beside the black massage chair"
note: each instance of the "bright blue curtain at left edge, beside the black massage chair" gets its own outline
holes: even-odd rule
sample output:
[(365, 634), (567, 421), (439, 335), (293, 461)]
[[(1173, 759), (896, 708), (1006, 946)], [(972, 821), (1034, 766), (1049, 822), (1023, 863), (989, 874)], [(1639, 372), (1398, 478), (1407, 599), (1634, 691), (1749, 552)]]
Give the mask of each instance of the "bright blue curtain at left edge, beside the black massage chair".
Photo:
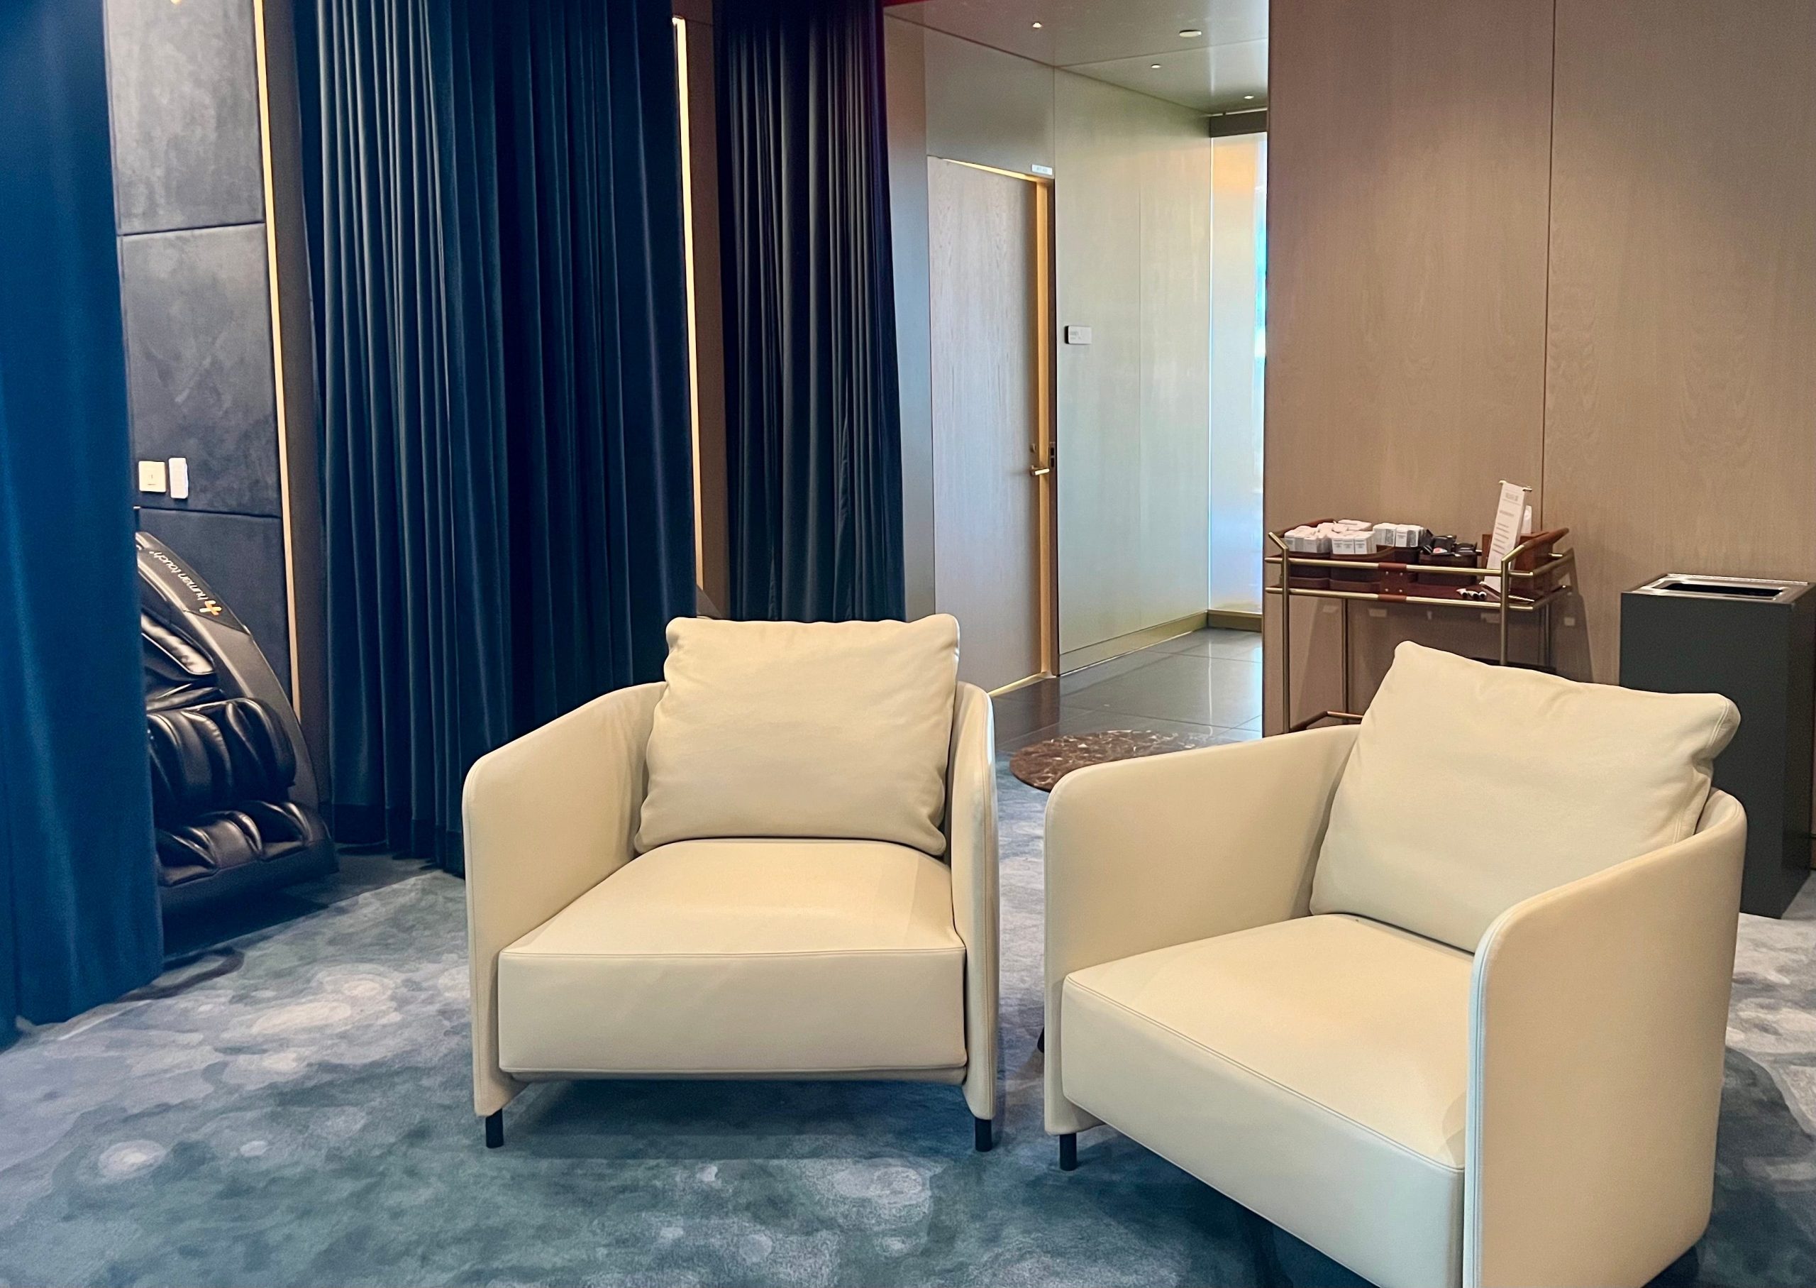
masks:
[(158, 974), (102, 5), (0, 5), (0, 1046)]

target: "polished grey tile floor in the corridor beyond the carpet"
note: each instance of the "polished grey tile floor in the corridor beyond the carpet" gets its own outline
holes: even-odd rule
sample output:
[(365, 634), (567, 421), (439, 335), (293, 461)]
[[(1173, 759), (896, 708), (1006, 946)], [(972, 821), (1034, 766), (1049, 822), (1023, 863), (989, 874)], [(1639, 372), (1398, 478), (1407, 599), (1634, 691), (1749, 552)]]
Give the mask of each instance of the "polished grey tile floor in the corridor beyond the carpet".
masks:
[(1195, 630), (995, 699), (997, 750), (1135, 728), (1260, 738), (1260, 634)]

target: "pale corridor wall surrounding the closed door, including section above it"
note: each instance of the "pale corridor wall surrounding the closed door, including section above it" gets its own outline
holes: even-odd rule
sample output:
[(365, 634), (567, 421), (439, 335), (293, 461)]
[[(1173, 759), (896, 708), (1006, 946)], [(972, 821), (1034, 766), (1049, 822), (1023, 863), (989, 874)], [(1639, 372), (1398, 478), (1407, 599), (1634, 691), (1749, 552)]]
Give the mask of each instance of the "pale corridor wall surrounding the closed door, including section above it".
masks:
[(1057, 354), (1061, 649), (1202, 612), (1204, 118), (899, 18), (884, 58), (910, 614), (933, 607), (926, 156), (1055, 171), (1057, 322), (1093, 329)]

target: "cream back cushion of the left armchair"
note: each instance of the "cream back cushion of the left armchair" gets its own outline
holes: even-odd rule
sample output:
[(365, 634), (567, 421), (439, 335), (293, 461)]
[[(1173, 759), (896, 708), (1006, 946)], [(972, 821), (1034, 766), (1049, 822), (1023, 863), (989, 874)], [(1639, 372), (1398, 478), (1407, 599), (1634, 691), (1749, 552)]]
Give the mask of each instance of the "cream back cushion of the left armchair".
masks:
[(959, 623), (668, 623), (637, 850), (705, 837), (941, 854)]

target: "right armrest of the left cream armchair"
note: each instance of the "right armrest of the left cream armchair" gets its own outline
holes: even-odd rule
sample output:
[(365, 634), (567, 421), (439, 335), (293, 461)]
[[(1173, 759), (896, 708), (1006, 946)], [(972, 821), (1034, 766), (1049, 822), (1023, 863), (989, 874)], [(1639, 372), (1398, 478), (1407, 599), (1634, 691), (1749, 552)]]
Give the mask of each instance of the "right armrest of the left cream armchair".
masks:
[(990, 698), (977, 685), (959, 685), (946, 770), (946, 861), (952, 865), (952, 917), (964, 941), (964, 1101), (973, 1117), (986, 1121), (997, 1115), (995, 747)]

